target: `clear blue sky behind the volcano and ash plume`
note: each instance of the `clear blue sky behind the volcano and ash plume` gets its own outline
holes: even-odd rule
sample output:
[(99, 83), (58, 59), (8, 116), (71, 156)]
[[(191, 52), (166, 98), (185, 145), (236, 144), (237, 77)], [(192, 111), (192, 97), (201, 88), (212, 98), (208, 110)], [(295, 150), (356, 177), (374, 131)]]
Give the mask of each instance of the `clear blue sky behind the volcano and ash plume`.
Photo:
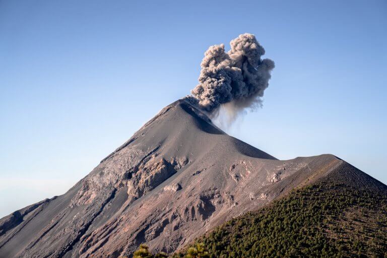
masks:
[(332, 153), (387, 183), (387, 2), (0, 0), (0, 217), (60, 195), (255, 34), (264, 106), (227, 132), (279, 159)]

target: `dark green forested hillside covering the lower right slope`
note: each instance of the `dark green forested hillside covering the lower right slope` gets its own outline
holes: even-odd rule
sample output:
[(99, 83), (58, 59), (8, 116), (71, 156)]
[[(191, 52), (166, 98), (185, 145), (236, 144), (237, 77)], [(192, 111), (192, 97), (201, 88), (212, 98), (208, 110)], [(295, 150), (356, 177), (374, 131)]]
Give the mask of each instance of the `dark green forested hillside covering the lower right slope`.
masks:
[(309, 185), (228, 221), (171, 257), (387, 258), (387, 195)]

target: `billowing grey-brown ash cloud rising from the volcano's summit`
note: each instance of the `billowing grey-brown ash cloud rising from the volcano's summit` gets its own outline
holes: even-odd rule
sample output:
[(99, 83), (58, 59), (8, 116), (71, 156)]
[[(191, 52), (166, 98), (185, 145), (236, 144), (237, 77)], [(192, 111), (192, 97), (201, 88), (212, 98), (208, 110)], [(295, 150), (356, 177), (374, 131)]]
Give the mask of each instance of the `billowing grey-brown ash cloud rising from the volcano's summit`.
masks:
[(190, 101), (216, 116), (222, 105), (235, 119), (245, 108), (261, 106), (264, 91), (269, 86), (274, 61), (261, 59), (265, 49), (249, 33), (230, 42), (210, 46), (201, 63), (199, 84), (191, 90)]

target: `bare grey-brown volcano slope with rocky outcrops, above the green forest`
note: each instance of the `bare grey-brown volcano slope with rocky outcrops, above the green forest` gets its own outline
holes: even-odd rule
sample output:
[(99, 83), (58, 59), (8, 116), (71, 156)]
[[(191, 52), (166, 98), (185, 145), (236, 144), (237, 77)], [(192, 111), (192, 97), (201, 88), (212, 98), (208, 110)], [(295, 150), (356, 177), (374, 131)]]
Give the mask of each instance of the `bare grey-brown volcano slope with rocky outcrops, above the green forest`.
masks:
[(277, 160), (179, 100), (67, 193), (1, 219), (0, 257), (118, 257), (143, 242), (173, 252), (337, 173), (354, 186), (386, 187), (333, 155)]

